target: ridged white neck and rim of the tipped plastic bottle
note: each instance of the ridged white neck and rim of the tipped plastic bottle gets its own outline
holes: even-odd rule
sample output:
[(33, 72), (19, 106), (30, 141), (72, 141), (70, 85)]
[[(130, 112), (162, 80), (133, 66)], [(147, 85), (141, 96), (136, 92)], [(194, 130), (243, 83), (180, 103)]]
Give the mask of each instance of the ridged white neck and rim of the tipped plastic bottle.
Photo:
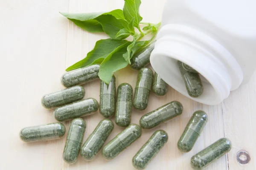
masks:
[[(204, 93), (192, 98), (177, 68), (177, 60), (201, 74)], [(188, 26), (168, 24), (157, 35), (150, 62), (159, 76), (181, 94), (204, 104), (216, 105), (239, 87), (243, 74), (236, 59), (220, 43)]]

